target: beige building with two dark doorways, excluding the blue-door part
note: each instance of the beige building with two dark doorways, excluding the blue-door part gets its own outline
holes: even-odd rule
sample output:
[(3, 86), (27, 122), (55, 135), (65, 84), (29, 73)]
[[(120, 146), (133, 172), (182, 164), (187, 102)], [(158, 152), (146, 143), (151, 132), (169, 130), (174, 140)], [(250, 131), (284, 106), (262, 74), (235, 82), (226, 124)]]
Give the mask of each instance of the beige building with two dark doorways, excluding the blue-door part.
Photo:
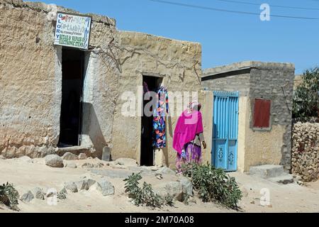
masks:
[[(65, 48), (53, 45), (57, 22), (50, 13), (55, 10), (78, 13), (42, 3), (0, 0), (1, 155), (43, 157), (70, 150), (101, 157), (108, 145), (113, 159), (143, 162), (141, 117), (125, 116), (122, 109), (123, 94), (137, 95), (148, 80), (155, 87), (167, 87), (169, 94), (199, 92), (208, 140), (203, 160), (210, 160), (211, 94), (201, 92), (199, 43), (118, 31), (113, 18), (87, 14), (89, 49)], [(173, 101), (169, 98), (170, 106)], [(136, 101), (136, 109), (141, 103)], [(176, 121), (177, 114), (167, 119), (167, 148), (157, 155), (159, 162), (170, 166), (176, 155), (172, 149)]]

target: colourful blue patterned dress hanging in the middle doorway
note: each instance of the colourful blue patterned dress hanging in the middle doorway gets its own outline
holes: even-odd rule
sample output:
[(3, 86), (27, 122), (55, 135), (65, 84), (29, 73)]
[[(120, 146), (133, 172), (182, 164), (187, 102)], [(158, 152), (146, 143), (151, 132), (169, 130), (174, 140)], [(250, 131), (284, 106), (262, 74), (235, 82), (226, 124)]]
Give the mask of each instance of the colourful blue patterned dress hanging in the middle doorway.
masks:
[[(166, 110), (165, 110), (166, 109)], [(157, 104), (153, 112), (153, 147), (166, 148), (165, 116), (169, 113), (167, 89), (160, 87), (157, 91)]]

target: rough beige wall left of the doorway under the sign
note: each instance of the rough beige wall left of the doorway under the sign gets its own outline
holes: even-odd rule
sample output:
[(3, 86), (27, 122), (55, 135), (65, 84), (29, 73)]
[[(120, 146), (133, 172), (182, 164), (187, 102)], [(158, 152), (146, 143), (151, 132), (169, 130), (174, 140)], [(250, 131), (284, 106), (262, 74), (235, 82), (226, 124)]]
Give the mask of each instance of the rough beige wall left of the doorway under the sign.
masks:
[(0, 150), (6, 157), (57, 143), (60, 52), (50, 45), (54, 26), (45, 19), (44, 11), (0, 1)]

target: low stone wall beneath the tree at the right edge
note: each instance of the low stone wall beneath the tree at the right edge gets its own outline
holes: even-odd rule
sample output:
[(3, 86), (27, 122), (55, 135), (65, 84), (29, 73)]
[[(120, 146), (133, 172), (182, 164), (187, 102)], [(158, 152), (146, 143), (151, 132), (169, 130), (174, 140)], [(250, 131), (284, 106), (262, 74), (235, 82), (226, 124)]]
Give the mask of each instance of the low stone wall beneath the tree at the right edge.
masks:
[(319, 179), (319, 123), (295, 123), (292, 140), (292, 173), (305, 182)]

